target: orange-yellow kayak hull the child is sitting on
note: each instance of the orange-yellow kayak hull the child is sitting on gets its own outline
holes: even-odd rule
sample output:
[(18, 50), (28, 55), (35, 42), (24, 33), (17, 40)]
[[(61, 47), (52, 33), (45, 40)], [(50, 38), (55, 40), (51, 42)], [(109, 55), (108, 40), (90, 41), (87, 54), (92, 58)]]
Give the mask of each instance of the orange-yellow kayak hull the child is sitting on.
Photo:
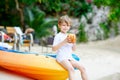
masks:
[(68, 72), (54, 58), (0, 51), (0, 66), (37, 80), (66, 80)]

